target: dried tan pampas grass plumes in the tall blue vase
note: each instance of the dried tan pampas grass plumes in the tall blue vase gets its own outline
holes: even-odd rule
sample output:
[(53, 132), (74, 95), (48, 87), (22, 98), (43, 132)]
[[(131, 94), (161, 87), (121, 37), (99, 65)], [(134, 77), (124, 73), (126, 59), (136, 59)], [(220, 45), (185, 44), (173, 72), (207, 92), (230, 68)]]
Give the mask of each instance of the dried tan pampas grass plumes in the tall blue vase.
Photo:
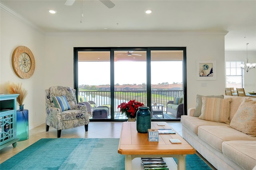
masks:
[(28, 91), (22, 87), (22, 83), (10, 83), (7, 84), (7, 90), (10, 94), (20, 94), (17, 98), (19, 105), (23, 105), (23, 101), (28, 94)]

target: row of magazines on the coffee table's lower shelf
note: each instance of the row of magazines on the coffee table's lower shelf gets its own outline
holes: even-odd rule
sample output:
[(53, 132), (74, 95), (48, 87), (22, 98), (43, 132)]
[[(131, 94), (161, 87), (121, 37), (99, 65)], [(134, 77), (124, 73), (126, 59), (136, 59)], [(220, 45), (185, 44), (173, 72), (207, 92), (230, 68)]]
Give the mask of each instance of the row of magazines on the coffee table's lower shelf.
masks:
[(144, 170), (169, 170), (163, 158), (141, 158)]

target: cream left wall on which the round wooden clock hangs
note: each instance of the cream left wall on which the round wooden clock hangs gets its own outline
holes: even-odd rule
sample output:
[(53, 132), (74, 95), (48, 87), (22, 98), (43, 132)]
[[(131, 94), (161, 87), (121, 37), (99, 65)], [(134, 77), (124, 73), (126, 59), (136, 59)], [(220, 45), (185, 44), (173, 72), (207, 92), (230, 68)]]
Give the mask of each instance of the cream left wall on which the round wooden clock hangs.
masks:
[[(45, 122), (45, 35), (3, 10), (0, 12), (0, 21), (0, 93), (6, 93), (5, 85), (8, 81), (22, 83), (24, 89), (28, 90), (28, 95), (24, 99), (24, 109), (29, 111), (31, 129)], [(12, 52), (20, 45), (28, 47), (35, 57), (36, 68), (29, 79), (20, 79), (12, 69)]]

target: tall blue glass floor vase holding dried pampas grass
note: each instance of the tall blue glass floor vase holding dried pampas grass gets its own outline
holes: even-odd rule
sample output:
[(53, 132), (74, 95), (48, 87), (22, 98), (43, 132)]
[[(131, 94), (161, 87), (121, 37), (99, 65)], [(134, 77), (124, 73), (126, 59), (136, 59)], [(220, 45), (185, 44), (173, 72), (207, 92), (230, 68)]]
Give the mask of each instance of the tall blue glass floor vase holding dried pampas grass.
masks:
[(28, 91), (22, 87), (21, 83), (8, 83), (8, 92), (10, 94), (20, 94), (17, 97), (20, 109), (16, 111), (17, 114), (17, 138), (19, 141), (28, 139), (28, 110), (24, 109), (23, 101), (28, 94)]

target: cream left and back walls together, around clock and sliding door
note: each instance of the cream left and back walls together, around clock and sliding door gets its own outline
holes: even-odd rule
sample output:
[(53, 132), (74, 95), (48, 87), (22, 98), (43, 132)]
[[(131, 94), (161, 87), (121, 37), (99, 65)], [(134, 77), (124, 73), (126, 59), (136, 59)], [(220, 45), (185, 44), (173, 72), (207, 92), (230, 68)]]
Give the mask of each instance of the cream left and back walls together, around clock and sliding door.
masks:
[[(195, 107), (196, 95), (224, 94), (224, 32), (212, 33), (64, 33), (42, 34), (10, 16), (0, 13), (0, 93), (6, 93), (8, 81), (22, 82), (28, 90), (24, 108), (29, 110), (29, 128), (45, 122), (44, 90), (53, 85), (73, 87), (73, 47), (186, 47), (188, 108)], [(12, 52), (29, 47), (36, 60), (30, 79), (20, 79), (12, 69)], [(196, 61), (216, 60), (217, 79), (196, 80)], [(174, 73), (166, 73), (174, 74)], [(206, 83), (206, 87), (201, 87)]]

